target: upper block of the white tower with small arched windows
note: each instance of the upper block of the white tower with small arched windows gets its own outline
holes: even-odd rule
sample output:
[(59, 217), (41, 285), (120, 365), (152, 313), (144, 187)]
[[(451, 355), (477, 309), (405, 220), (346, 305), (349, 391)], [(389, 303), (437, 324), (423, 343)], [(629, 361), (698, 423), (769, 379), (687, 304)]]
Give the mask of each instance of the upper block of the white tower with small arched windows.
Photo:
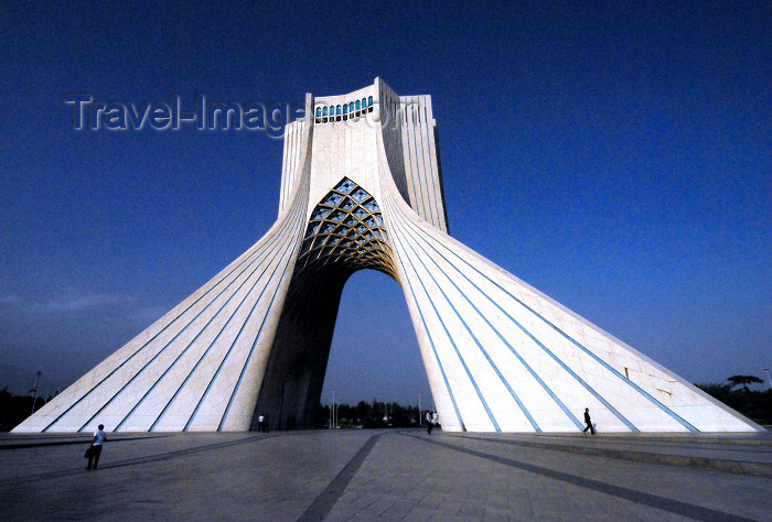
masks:
[[(375, 187), (380, 178), (380, 139), (394, 184), (405, 202), (431, 225), (448, 231), (430, 96), (400, 97), (376, 78), (374, 85), (347, 95), (313, 98), (312, 107), (310, 202), (318, 202), (340, 181), (341, 173), (379, 196)], [(300, 153), (308, 145), (301, 139), (302, 121), (287, 129), (279, 213), (296, 182)], [(374, 132), (376, 128), (378, 132)]]

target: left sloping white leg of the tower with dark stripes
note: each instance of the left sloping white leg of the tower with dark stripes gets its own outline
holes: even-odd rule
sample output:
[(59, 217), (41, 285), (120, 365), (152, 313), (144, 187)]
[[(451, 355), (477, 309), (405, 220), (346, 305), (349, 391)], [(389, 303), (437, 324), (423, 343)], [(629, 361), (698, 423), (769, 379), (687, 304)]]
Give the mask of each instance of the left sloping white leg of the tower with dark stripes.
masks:
[(246, 431), (305, 225), (312, 126), (276, 225), (15, 432)]

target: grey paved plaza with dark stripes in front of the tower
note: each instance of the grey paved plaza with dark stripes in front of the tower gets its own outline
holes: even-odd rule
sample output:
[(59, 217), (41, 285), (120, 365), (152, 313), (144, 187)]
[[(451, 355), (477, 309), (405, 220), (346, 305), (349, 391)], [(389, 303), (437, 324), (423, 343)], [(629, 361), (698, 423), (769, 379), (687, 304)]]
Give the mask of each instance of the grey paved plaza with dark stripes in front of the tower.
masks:
[(772, 438), (3, 434), (0, 520), (772, 520)]

